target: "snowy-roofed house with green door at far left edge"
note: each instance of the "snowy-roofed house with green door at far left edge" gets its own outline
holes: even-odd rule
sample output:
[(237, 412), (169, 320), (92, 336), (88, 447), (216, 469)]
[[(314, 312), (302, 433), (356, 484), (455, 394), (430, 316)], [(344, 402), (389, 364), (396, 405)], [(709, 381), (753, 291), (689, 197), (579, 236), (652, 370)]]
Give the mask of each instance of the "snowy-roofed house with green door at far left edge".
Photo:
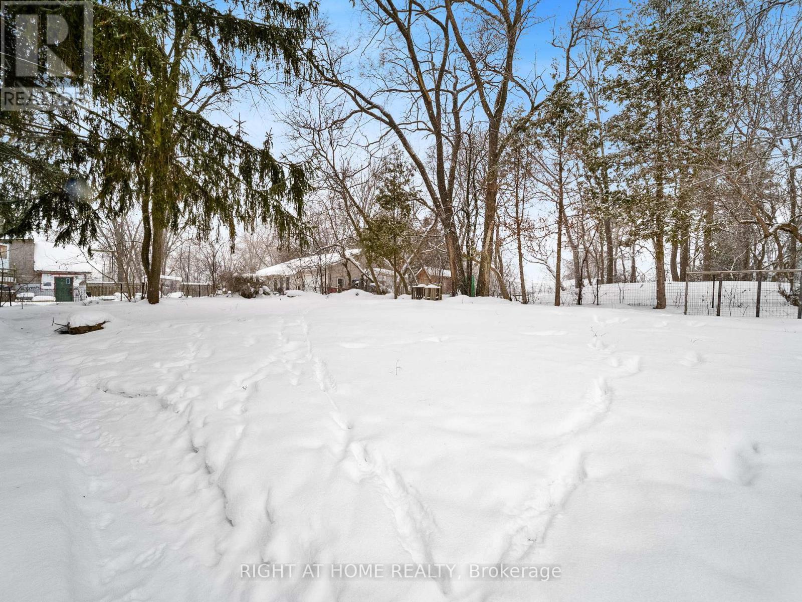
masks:
[[(86, 283), (107, 279), (110, 254), (89, 258), (79, 246), (56, 246), (47, 240), (0, 240), (0, 283), (19, 295), (74, 301), (86, 297)], [(22, 292), (19, 292), (22, 291)]]

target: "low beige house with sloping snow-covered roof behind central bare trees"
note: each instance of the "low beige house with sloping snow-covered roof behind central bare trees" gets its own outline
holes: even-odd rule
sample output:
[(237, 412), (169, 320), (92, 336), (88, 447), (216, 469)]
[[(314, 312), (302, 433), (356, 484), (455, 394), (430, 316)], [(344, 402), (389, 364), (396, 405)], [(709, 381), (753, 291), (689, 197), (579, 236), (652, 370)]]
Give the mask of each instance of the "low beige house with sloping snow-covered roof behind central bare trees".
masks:
[(354, 280), (363, 281), (360, 249), (334, 250), (290, 259), (257, 270), (254, 276), (273, 291), (291, 290), (334, 293), (351, 288)]

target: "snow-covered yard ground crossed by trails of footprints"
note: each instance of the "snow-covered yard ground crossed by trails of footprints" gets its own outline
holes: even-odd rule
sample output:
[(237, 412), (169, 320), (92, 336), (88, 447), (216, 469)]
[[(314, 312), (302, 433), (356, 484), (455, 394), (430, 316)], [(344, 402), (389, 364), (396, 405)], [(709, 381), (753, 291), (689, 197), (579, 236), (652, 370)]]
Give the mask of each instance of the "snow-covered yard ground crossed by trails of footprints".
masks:
[(2, 600), (802, 599), (802, 321), (301, 295), (55, 334), (73, 311), (0, 309)]

